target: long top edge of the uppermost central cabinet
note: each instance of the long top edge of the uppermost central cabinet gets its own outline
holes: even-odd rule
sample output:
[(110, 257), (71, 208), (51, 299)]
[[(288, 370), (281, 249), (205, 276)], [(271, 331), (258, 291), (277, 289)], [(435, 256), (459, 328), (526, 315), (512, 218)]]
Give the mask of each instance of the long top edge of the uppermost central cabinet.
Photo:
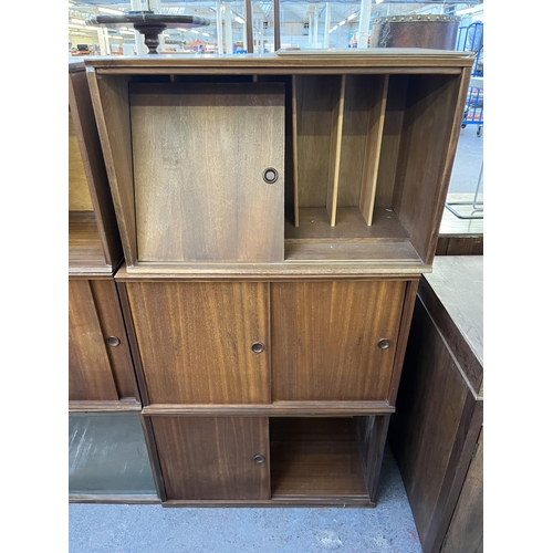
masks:
[[(353, 53), (356, 52), (356, 53)], [(359, 53), (357, 53), (359, 52)], [(157, 54), (133, 56), (87, 56), (83, 60), (87, 67), (97, 70), (148, 71), (159, 69), (194, 67), (251, 67), (267, 70), (326, 69), (341, 72), (347, 69), (390, 67), (416, 70), (432, 67), (451, 70), (471, 67), (471, 52), (425, 49), (368, 49), (366, 51), (281, 51), (276, 54)]]

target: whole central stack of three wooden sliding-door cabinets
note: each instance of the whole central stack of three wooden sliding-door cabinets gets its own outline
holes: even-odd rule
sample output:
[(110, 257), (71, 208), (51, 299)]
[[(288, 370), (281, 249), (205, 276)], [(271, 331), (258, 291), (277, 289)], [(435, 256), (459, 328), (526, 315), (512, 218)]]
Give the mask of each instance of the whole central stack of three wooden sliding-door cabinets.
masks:
[(463, 53), (84, 61), (165, 505), (374, 505)]

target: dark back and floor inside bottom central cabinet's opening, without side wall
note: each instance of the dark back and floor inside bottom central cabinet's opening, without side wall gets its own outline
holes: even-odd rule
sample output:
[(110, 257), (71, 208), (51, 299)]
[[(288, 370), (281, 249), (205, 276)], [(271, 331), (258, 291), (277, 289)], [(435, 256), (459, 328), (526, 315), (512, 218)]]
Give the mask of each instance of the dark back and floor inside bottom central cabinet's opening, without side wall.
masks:
[(274, 499), (330, 498), (368, 502), (352, 418), (275, 418), (271, 428)]

